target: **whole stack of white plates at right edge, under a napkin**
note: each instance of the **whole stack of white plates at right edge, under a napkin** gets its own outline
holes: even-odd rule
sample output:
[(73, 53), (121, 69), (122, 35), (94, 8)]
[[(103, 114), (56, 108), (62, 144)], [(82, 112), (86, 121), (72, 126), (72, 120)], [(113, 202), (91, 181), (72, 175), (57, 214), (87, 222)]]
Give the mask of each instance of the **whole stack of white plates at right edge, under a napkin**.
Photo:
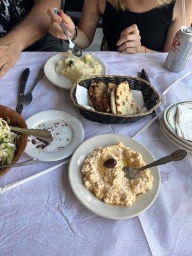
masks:
[(164, 115), (161, 118), (161, 129), (164, 133), (164, 136), (168, 138), (168, 140), (172, 141), (179, 148), (183, 148), (188, 152), (192, 153), (192, 141), (185, 140), (177, 134), (177, 130), (175, 127), (175, 120), (177, 115), (177, 106), (182, 105), (186, 108), (192, 109), (192, 101), (185, 102), (177, 102), (171, 106), (169, 106), (165, 111)]

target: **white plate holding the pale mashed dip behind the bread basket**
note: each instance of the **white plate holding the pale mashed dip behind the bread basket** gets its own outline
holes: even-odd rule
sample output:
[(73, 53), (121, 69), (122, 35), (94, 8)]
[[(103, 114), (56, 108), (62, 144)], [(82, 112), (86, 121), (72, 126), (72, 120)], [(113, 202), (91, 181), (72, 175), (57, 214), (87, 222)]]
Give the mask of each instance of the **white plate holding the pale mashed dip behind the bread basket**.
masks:
[[(45, 63), (44, 73), (45, 73), (45, 76), (47, 77), (47, 79), (51, 83), (53, 83), (56, 86), (59, 86), (63, 89), (70, 90), (72, 88), (72, 83), (70, 82), (70, 80), (67, 79), (67, 77), (60, 76), (55, 71), (55, 67), (56, 67), (58, 61), (62, 60), (64, 57), (68, 57), (68, 56), (71, 56), (71, 54), (68, 53), (68, 52), (61, 52), (59, 54), (56, 54), (56, 55), (52, 56)], [(100, 73), (100, 75), (106, 75), (107, 70), (106, 70), (106, 66), (104, 65), (104, 63), (101, 60), (99, 60), (99, 58), (97, 58), (93, 55), (92, 55), (92, 58), (93, 58), (93, 60), (97, 61), (102, 67), (102, 72)]]

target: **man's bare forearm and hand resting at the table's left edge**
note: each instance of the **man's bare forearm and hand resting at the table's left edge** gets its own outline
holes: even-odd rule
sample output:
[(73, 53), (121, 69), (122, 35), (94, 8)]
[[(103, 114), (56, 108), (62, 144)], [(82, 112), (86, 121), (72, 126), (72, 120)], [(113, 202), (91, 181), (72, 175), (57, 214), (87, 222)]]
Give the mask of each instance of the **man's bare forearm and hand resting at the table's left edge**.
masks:
[(45, 35), (50, 25), (47, 10), (60, 8), (60, 4), (61, 0), (35, 0), (26, 18), (0, 38), (0, 78), (17, 62), (21, 51)]

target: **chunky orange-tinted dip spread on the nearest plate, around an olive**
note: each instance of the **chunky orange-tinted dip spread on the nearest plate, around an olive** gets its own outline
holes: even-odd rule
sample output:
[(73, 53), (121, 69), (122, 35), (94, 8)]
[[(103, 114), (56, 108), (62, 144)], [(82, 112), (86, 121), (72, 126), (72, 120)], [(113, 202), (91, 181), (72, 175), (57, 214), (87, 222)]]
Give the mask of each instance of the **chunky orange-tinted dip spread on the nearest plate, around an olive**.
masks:
[[(116, 160), (116, 166), (106, 168), (104, 162), (111, 158)], [(122, 168), (144, 165), (141, 154), (122, 143), (97, 148), (88, 154), (81, 169), (84, 186), (106, 204), (132, 205), (136, 195), (152, 189), (153, 176), (146, 169), (138, 173), (134, 180), (129, 180)]]

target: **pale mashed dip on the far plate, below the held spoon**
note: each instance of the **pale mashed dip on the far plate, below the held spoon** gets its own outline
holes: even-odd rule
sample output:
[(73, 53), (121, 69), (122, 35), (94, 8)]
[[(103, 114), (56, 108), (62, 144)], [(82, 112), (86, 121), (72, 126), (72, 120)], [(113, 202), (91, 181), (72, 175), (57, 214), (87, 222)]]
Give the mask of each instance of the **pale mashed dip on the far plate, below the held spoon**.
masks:
[(102, 72), (101, 65), (93, 60), (91, 54), (85, 54), (82, 58), (68, 56), (58, 61), (55, 68), (60, 76), (67, 77), (72, 84), (81, 77), (99, 75)]

